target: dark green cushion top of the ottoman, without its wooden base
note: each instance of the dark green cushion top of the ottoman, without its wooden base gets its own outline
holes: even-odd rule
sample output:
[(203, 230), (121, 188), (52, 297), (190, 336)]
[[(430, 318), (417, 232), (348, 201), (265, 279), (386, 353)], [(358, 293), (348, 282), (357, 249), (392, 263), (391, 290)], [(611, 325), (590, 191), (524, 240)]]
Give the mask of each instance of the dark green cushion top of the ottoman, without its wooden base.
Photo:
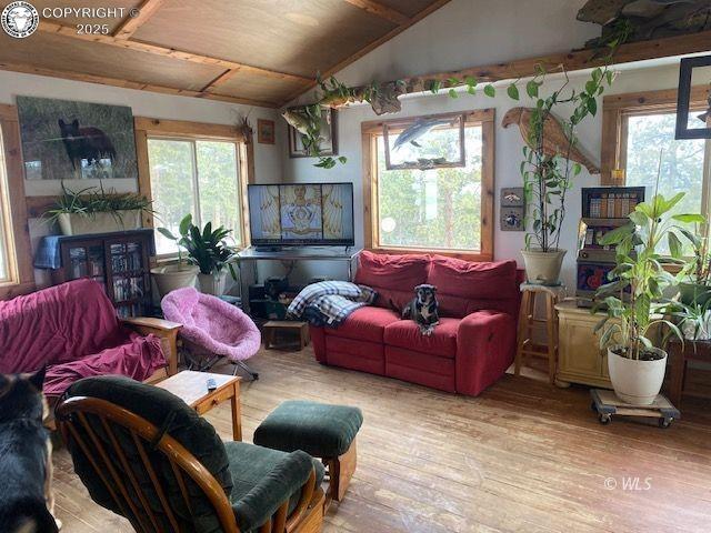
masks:
[(274, 409), (254, 431), (254, 444), (316, 457), (348, 452), (363, 423), (360, 409), (291, 400)]

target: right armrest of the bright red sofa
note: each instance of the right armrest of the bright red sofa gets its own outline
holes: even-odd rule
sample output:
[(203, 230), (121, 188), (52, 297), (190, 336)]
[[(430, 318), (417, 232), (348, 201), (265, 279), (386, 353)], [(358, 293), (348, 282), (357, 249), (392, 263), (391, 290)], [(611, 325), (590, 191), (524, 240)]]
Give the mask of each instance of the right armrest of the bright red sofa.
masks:
[(457, 392), (478, 395), (513, 362), (515, 319), (500, 311), (477, 311), (457, 331)]

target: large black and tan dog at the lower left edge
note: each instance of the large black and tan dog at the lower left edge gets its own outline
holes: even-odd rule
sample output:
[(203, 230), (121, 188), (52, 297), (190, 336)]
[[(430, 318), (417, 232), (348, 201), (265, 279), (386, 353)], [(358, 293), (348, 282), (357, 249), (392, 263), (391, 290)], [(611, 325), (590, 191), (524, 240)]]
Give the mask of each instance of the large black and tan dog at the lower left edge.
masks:
[(0, 531), (54, 533), (44, 370), (0, 375)]

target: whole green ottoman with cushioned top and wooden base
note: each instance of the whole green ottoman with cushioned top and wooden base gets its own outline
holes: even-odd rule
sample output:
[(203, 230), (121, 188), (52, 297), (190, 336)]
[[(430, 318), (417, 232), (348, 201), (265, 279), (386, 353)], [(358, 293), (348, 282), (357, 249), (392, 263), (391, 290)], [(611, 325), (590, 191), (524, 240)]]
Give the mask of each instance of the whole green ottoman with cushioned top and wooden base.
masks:
[(358, 408), (288, 401), (254, 431), (254, 444), (282, 452), (302, 450), (328, 467), (330, 502), (340, 502), (356, 472), (356, 435), (363, 423)]

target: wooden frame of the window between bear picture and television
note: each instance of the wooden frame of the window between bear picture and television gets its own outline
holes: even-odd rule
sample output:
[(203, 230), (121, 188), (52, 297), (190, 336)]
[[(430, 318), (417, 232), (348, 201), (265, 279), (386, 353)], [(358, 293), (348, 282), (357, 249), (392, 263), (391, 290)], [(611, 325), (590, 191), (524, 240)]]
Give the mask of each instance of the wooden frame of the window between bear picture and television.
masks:
[[(240, 198), (240, 233), (241, 239), (236, 250), (249, 248), (249, 210), (247, 200), (247, 185), (254, 183), (254, 144), (252, 135), (246, 137), (236, 127), (227, 124), (212, 124), (204, 122), (190, 122), (183, 120), (161, 120), (146, 117), (136, 117), (136, 149), (138, 157), (139, 192), (148, 200), (153, 199), (151, 190), (150, 160), (148, 153), (149, 139), (167, 139), (174, 141), (221, 141), (236, 144), (238, 163), (238, 188)], [(197, 171), (197, 169), (196, 169)], [(152, 213), (143, 213), (143, 227), (156, 228)], [(177, 253), (157, 255), (159, 261), (173, 261)]]

